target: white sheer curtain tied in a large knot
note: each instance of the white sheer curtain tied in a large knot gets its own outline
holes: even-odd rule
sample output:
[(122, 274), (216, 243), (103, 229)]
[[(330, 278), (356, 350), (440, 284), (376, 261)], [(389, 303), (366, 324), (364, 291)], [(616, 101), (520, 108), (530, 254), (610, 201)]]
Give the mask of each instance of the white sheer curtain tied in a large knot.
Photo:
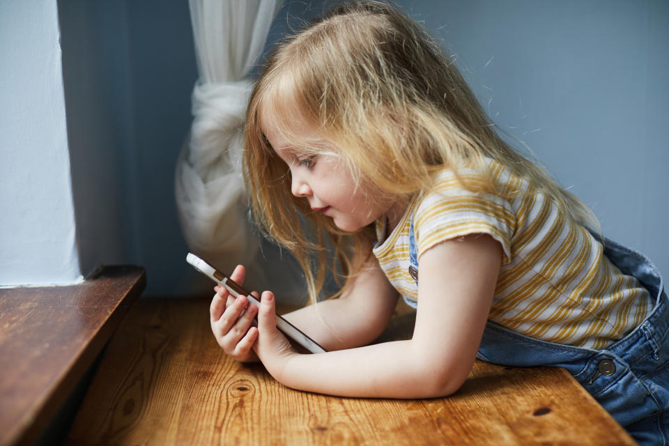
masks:
[(190, 0), (199, 80), (194, 116), (176, 167), (176, 203), (190, 250), (224, 272), (238, 263), (262, 280), (259, 240), (242, 178), (243, 124), (251, 82), (282, 0)]

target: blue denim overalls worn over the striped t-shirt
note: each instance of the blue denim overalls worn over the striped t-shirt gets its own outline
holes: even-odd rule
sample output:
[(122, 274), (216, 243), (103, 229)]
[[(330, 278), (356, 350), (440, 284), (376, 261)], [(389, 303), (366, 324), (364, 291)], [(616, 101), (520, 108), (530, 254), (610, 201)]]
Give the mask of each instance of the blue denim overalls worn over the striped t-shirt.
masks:
[[(417, 283), (413, 220), (409, 240), (410, 274)], [(489, 321), (477, 357), (509, 366), (564, 367), (640, 445), (669, 445), (669, 302), (662, 277), (646, 256), (611, 240), (604, 241), (604, 255), (656, 299), (636, 329), (596, 351), (534, 339)]]

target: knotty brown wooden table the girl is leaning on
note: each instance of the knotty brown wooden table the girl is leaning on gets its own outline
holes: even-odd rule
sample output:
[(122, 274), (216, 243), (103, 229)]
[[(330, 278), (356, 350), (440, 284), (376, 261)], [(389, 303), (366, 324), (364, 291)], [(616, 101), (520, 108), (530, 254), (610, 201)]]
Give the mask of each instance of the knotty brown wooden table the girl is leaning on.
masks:
[[(633, 445), (557, 368), (476, 362), (451, 397), (327, 397), (283, 387), (227, 358), (208, 300), (139, 300), (113, 337), (66, 444)], [(408, 328), (407, 328), (408, 327)], [(384, 339), (410, 333), (410, 316)]]

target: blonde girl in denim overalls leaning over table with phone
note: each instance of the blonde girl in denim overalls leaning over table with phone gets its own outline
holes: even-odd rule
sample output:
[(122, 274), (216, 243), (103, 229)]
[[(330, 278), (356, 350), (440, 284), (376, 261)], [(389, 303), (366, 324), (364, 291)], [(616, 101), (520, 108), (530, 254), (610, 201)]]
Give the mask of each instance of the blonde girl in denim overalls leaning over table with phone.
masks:
[[(217, 287), (217, 341), (284, 385), (350, 397), (443, 397), (477, 356), (565, 367), (638, 441), (669, 442), (659, 273), (590, 231), (590, 210), (492, 127), (438, 45), (383, 3), (279, 44), (247, 112), (254, 215), (314, 302), (331, 252), (344, 286), (286, 316), (328, 353), (293, 349), (270, 291), (256, 310)], [(399, 295), (417, 307), (412, 339), (368, 345)]]

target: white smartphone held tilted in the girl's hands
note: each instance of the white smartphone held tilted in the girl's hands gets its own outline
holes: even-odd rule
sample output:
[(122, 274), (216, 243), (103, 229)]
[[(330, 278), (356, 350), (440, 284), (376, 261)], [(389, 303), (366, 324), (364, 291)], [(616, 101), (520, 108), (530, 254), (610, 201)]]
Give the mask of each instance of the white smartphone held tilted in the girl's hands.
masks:
[[(260, 301), (256, 299), (251, 293), (243, 289), (237, 282), (234, 282), (232, 279), (230, 279), (230, 277), (224, 275), (222, 272), (211, 266), (206, 261), (203, 261), (195, 254), (189, 252), (186, 256), (186, 261), (203, 275), (206, 275), (217, 284), (224, 286), (234, 297), (238, 297), (240, 295), (246, 296), (249, 302), (251, 302), (253, 305), (256, 307), (260, 306)], [(287, 337), (293, 339), (293, 341), (297, 342), (308, 351), (312, 353), (325, 353), (325, 348), (319, 346), (318, 343), (314, 341), (314, 339), (308, 337), (307, 334), (295, 327), (295, 325), (291, 324), (289, 321), (286, 321), (286, 319), (279, 314), (277, 314), (277, 328), (284, 332)]]

